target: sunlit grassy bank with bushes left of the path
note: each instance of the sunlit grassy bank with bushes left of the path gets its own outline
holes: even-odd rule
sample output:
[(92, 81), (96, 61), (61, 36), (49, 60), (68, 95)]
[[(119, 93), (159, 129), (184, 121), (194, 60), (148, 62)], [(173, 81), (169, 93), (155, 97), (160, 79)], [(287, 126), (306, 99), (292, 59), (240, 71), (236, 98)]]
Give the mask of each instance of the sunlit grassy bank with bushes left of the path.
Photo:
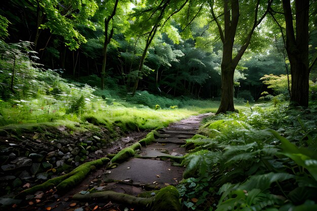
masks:
[(19, 131), (16, 129), (21, 127), (25, 131), (44, 123), (62, 124), (71, 130), (89, 125), (109, 131), (114, 127), (123, 132), (150, 130), (218, 107), (218, 102), (173, 99), (146, 91), (127, 96), (124, 86), (110, 77), (100, 90), (96, 75), (80, 81), (62, 78), (60, 70), (44, 69), (36, 63), (36, 54), (29, 42), (6, 44), (0, 40), (1, 130)]

